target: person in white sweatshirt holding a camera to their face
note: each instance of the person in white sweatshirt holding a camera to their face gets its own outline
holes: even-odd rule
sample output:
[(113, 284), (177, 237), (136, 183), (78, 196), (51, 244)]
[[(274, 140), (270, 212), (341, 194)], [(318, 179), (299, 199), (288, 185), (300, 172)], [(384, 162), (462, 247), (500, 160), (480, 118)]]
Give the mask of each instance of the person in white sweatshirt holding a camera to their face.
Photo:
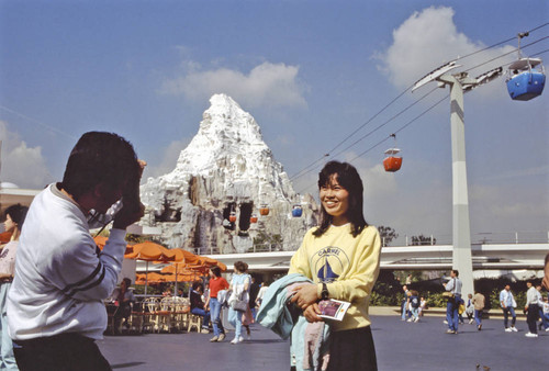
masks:
[[(111, 370), (94, 340), (107, 327), (103, 300), (116, 285), (125, 229), (143, 216), (135, 196), (144, 161), (116, 134), (83, 134), (63, 182), (33, 200), (20, 237), (8, 322), (22, 370)], [(92, 213), (123, 198), (103, 250), (89, 233)]]

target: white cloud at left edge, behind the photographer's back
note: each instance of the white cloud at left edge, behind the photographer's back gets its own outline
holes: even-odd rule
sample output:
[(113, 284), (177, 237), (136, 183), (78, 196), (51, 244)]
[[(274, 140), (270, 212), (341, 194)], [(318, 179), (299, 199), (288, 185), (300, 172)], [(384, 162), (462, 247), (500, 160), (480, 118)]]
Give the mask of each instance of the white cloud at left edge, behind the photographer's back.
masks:
[(42, 156), (41, 147), (27, 147), (20, 136), (0, 121), (0, 140), (2, 142), (2, 165), (0, 178), (3, 182), (15, 183), (21, 188), (42, 189), (53, 181)]

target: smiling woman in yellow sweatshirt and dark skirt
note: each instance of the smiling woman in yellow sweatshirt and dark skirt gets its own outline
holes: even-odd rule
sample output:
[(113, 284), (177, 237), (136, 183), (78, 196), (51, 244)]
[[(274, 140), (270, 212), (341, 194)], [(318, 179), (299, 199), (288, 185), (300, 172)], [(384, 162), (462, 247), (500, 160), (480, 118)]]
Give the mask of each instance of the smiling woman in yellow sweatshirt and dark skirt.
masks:
[(351, 165), (329, 161), (318, 175), (318, 189), (321, 225), (305, 234), (289, 271), (314, 283), (298, 288), (292, 302), (309, 322), (323, 321), (320, 300), (350, 302), (343, 321), (332, 323), (328, 370), (377, 370), (368, 303), (381, 241), (362, 215), (362, 180)]

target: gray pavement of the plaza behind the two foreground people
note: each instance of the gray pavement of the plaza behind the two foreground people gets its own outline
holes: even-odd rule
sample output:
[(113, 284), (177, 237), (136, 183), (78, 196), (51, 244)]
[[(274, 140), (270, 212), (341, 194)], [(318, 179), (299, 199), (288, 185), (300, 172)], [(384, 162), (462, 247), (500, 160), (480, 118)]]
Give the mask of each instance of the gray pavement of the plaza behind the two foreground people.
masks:
[[(422, 317), (418, 323), (401, 322), (395, 315), (372, 316), (372, 334), (380, 370), (549, 370), (546, 355), (549, 333), (526, 338), (526, 322), (518, 333), (505, 333), (502, 319), (484, 319), (482, 331), (461, 325), (458, 335), (445, 334), (442, 317)], [(259, 325), (251, 327), (251, 340), (231, 345), (232, 334), (222, 344), (212, 335), (145, 334), (105, 336), (98, 341), (114, 370), (226, 370), (288, 371), (289, 341)], [(348, 371), (348, 370), (346, 370)], [(350, 371), (350, 370), (349, 370)]]

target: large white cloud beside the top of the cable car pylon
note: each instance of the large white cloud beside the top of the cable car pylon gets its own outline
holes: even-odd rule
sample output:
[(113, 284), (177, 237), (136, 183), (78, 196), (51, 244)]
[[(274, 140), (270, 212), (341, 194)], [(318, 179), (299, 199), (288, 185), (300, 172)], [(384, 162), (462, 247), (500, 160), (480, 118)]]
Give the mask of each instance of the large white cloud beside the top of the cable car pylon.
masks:
[[(444, 63), (467, 56), (485, 47), (458, 32), (453, 23), (453, 9), (430, 7), (414, 12), (393, 31), (393, 44), (374, 57), (383, 61), (378, 68), (389, 76), (397, 88), (406, 88)], [(464, 70), (477, 67), (492, 58), (513, 50), (513, 46), (491, 48), (458, 60)], [(488, 63), (470, 71), (477, 77), (492, 68), (502, 66), (516, 55)]]

